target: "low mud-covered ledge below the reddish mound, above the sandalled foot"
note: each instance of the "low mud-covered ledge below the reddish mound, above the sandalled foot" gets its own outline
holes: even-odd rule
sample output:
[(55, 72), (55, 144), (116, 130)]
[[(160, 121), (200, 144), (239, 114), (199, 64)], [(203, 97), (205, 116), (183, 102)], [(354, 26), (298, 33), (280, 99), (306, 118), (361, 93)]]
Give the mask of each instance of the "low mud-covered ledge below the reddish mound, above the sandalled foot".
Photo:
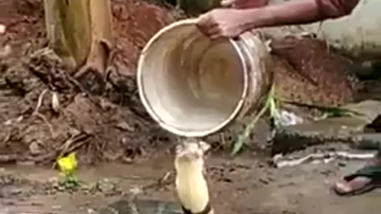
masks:
[(371, 129), (367, 126), (381, 114), (381, 102), (366, 100), (340, 109), (347, 112), (346, 117), (327, 117), (279, 128), (273, 138), (273, 155), (329, 142), (345, 142), (357, 149), (378, 149), (381, 135), (365, 131)]

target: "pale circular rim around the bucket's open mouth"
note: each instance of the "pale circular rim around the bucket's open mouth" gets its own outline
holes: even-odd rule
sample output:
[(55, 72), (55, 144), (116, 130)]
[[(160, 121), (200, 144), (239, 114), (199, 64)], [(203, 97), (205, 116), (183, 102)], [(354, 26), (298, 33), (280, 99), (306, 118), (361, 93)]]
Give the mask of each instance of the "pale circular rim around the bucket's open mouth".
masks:
[(158, 39), (160, 39), (163, 34), (165, 34), (168, 30), (179, 27), (179, 26), (184, 26), (184, 25), (195, 25), (197, 23), (196, 18), (191, 18), (191, 19), (183, 19), (181, 21), (176, 21), (168, 26), (163, 27), (162, 29), (158, 30), (154, 36), (152, 36), (149, 41), (146, 43), (144, 48), (142, 49), (141, 53), (139, 54), (139, 59), (138, 59), (138, 67), (137, 67), (137, 85), (138, 85), (138, 91), (139, 91), (139, 97), (141, 99), (141, 102), (145, 109), (147, 110), (148, 114), (152, 119), (158, 123), (159, 126), (161, 126), (163, 129), (166, 131), (169, 131), (170, 133), (173, 133), (178, 136), (184, 136), (184, 137), (204, 137), (209, 134), (215, 133), (222, 128), (224, 128), (226, 125), (228, 125), (232, 120), (234, 120), (235, 117), (237, 117), (238, 113), (243, 107), (243, 102), (245, 100), (245, 97), (247, 97), (248, 93), (248, 64), (247, 61), (245, 60), (245, 57), (243, 56), (242, 50), (239, 48), (239, 45), (237, 44), (237, 41), (235, 41), (232, 38), (227, 38), (229, 43), (233, 46), (235, 52), (238, 54), (240, 62), (243, 67), (243, 91), (241, 93), (239, 102), (235, 105), (234, 110), (230, 113), (229, 117), (224, 119), (222, 123), (219, 123), (219, 125), (206, 129), (204, 131), (189, 131), (189, 130), (184, 130), (184, 129), (179, 129), (174, 127), (173, 125), (169, 125), (165, 121), (163, 121), (155, 112), (155, 110), (152, 108), (149, 100), (146, 97), (146, 93), (144, 91), (144, 83), (143, 83), (143, 63), (146, 58), (146, 53), (149, 50), (149, 48), (152, 46), (154, 42), (156, 42)]

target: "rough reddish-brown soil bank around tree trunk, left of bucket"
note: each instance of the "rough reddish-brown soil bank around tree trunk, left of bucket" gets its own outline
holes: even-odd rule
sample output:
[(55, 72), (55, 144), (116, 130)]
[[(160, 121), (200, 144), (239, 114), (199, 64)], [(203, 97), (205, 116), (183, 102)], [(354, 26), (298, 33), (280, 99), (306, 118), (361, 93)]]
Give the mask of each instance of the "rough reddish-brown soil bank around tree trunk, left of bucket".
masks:
[[(116, 69), (105, 93), (92, 96), (44, 49), (41, 0), (0, 0), (0, 6), (6, 11), (1, 14), (6, 32), (0, 46), (11, 47), (0, 59), (2, 162), (46, 164), (77, 150), (81, 163), (130, 163), (174, 142), (142, 107), (134, 70), (143, 45), (173, 22), (176, 13), (142, 1), (112, 1)], [(53, 96), (59, 110), (52, 107)]]

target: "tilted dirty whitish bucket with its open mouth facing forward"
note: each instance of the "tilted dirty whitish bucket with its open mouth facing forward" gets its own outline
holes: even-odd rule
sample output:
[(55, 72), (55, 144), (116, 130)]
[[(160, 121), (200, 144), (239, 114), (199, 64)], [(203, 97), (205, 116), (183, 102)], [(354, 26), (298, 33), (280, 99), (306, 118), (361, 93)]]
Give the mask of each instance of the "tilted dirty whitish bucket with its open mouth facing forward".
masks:
[(269, 52), (251, 32), (210, 40), (194, 19), (154, 35), (138, 62), (144, 107), (162, 128), (186, 137), (214, 133), (255, 110), (269, 89)]

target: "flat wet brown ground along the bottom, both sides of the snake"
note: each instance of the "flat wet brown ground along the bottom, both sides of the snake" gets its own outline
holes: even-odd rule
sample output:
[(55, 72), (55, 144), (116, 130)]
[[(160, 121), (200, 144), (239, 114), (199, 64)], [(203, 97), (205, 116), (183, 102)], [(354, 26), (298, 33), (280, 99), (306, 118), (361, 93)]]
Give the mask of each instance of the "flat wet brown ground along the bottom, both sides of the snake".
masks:
[[(381, 191), (343, 198), (329, 191), (329, 183), (340, 175), (361, 166), (360, 162), (348, 162), (339, 167), (330, 164), (305, 164), (292, 168), (272, 169), (261, 160), (240, 158), (228, 160), (221, 157), (208, 159), (208, 179), (216, 213), (266, 213), (266, 214), (379, 214)], [(341, 163), (341, 165), (344, 165)], [(127, 192), (139, 185), (149, 185), (162, 178), (172, 167), (170, 158), (158, 157), (138, 164), (102, 164), (81, 168), (78, 176), (90, 183), (100, 179), (114, 182), (116, 189)], [(46, 183), (58, 176), (56, 171), (30, 166), (5, 166), (1, 174), (27, 177)], [(95, 194), (54, 193), (43, 195), (30, 193), (38, 185), (5, 185), (0, 189), (1, 214), (16, 213), (95, 213), (96, 209), (120, 198), (97, 192)], [(29, 191), (29, 193), (28, 193)], [(141, 198), (174, 200), (172, 185), (149, 189)]]

